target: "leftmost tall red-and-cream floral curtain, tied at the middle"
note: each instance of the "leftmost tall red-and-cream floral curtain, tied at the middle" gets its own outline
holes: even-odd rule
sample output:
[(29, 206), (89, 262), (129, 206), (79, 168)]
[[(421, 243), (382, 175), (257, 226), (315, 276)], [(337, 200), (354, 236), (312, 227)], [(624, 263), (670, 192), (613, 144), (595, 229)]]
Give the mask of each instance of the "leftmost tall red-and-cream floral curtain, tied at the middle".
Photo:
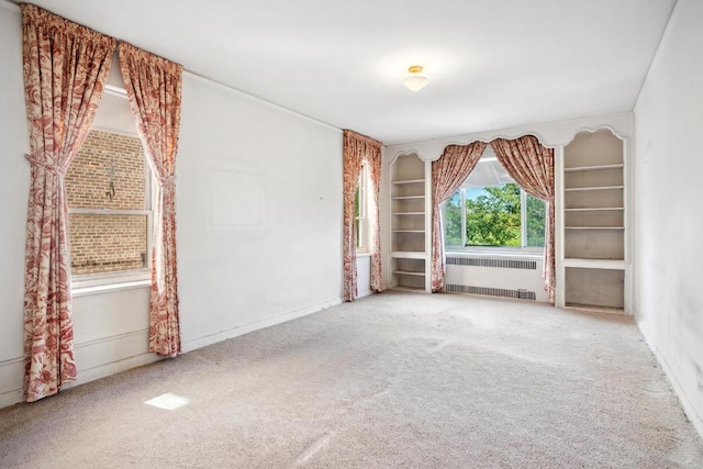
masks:
[(31, 186), (24, 276), (24, 399), (76, 379), (64, 176), (88, 136), (115, 41), (22, 8)]

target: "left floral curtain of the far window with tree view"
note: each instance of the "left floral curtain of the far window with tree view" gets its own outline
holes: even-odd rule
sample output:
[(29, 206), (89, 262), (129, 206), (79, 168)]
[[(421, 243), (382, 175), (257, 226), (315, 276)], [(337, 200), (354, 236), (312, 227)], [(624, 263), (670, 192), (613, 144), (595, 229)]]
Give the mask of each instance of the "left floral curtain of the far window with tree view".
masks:
[(432, 291), (444, 288), (444, 228), (439, 205), (461, 187), (486, 146), (483, 142), (449, 145), (439, 159), (432, 161)]

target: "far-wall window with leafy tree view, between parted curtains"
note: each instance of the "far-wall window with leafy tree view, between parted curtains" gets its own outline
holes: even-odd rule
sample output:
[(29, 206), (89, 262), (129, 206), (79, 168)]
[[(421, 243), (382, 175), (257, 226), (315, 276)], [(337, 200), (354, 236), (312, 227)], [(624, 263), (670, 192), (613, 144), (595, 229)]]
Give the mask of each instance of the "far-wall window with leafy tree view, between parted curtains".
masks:
[(545, 202), (522, 190), (491, 155), (479, 160), (444, 203), (445, 246), (531, 248), (545, 245)]

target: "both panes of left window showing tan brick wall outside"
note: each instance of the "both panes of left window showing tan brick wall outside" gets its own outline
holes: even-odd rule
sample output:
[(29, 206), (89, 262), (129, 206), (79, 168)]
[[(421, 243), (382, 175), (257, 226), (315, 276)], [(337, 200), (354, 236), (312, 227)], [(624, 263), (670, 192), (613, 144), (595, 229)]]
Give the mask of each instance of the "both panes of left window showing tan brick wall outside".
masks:
[(65, 185), (76, 280), (146, 273), (152, 178), (140, 138), (91, 130)]

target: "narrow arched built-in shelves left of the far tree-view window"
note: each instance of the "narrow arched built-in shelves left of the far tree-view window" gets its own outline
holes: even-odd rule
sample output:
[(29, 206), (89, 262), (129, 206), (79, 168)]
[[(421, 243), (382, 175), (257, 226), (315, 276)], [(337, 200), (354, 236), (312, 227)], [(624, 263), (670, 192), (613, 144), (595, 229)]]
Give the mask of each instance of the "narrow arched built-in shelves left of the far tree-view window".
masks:
[(390, 165), (391, 288), (429, 291), (429, 164), (400, 155)]

